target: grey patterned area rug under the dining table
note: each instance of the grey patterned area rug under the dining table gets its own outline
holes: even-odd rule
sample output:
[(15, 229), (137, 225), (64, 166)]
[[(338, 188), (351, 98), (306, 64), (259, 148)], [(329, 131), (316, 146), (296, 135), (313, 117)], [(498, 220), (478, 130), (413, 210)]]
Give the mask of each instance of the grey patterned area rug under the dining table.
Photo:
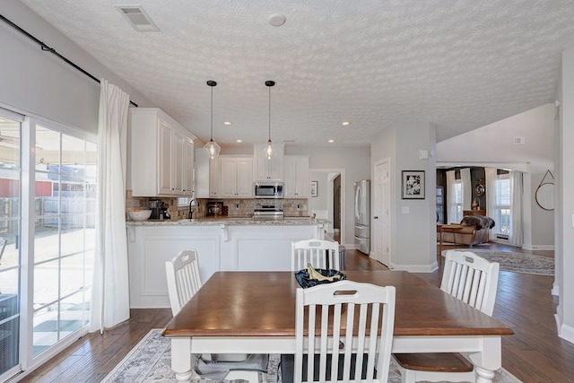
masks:
[[(102, 383), (167, 383), (175, 382), (175, 373), (170, 368), (171, 343), (169, 338), (161, 336), (161, 329), (154, 328), (143, 337), (139, 344), (109, 372)], [(281, 383), (277, 373), (279, 355), (269, 355), (269, 383)], [(215, 380), (195, 379), (194, 383), (214, 383)], [(224, 381), (226, 382), (226, 381)], [(401, 378), (396, 366), (391, 362), (388, 383), (400, 383)], [(509, 371), (500, 369), (495, 372), (493, 383), (521, 383)]]

